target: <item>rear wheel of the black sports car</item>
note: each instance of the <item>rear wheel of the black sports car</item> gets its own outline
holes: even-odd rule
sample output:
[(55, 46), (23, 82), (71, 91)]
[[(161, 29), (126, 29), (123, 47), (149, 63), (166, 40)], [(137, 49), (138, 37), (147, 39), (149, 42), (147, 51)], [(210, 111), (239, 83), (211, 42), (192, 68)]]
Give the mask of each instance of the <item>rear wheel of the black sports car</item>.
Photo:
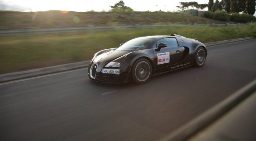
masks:
[(199, 47), (195, 54), (195, 66), (202, 67), (205, 64), (206, 52), (203, 47)]

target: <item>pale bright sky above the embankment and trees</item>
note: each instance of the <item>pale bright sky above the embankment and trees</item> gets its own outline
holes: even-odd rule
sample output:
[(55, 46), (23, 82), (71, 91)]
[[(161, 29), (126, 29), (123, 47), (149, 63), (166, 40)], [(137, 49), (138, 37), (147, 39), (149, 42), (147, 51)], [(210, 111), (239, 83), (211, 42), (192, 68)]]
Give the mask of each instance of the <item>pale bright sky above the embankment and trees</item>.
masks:
[[(120, 0), (0, 0), (0, 4), (9, 7), (18, 7), (22, 11), (109, 11), (110, 5)], [(177, 11), (179, 2), (197, 1), (199, 4), (208, 3), (209, 0), (123, 0), (125, 5), (135, 11)], [(1, 7), (0, 7), (1, 8)], [(208, 10), (208, 8), (205, 8)], [(256, 14), (255, 14), (256, 15)]]

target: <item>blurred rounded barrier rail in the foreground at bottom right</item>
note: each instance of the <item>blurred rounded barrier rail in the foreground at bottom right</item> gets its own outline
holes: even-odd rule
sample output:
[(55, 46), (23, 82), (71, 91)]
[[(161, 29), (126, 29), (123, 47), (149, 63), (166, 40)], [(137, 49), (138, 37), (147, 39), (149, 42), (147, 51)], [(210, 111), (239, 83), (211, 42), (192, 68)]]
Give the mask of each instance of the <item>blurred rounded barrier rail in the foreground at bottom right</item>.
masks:
[(205, 129), (211, 123), (226, 114), (246, 97), (255, 92), (255, 90), (256, 79), (158, 141), (187, 141), (188, 138), (199, 133), (199, 131)]

